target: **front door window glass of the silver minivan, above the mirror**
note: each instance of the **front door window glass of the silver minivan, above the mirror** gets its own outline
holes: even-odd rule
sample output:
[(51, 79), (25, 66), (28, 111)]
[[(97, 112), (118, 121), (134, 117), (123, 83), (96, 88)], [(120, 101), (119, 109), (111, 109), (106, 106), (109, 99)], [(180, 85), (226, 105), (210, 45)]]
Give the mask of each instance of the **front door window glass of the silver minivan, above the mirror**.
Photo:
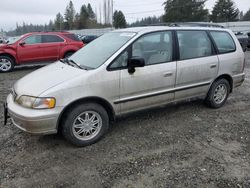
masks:
[(172, 61), (172, 32), (157, 32), (139, 38), (132, 45), (132, 57), (141, 57), (145, 65)]

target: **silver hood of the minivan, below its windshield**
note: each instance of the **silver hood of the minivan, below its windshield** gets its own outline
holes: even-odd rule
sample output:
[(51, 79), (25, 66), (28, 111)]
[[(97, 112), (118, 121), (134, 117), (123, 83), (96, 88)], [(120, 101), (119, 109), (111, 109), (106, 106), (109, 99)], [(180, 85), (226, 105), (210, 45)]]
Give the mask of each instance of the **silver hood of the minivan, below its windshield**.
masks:
[(46, 90), (82, 75), (86, 70), (77, 69), (61, 62), (38, 69), (21, 78), (14, 85), (17, 95), (40, 96)]

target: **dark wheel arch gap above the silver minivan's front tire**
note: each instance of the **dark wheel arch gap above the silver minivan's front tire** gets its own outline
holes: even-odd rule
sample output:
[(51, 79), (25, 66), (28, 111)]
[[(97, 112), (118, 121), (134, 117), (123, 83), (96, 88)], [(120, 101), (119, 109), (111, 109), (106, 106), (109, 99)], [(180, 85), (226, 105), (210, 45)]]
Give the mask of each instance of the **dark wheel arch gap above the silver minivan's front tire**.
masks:
[(70, 104), (68, 104), (63, 111), (60, 113), (58, 121), (57, 121), (57, 130), (59, 131), (61, 129), (61, 122), (64, 117), (66, 117), (67, 112), (69, 110), (77, 105), (84, 104), (84, 103), (97, 103), (101, 105), (108, 113), (109, 119), (111, 121), (115, 120), (115, 111), (112, 107), (112, 105), (105, 99), (100, 98), (100, 97), (86, 97), (86, 98), (81, 98), (77, 99)]

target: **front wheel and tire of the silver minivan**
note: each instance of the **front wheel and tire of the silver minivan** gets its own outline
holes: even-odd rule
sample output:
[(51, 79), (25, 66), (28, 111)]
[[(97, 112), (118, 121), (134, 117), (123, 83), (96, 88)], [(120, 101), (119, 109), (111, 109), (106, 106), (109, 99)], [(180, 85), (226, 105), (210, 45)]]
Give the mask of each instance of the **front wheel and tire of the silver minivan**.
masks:
[(84, 103), (70, 109), (62, 121), (63, 136), (80, 147), (99, 141), (108, 128), (108, 113), (96, 103)]

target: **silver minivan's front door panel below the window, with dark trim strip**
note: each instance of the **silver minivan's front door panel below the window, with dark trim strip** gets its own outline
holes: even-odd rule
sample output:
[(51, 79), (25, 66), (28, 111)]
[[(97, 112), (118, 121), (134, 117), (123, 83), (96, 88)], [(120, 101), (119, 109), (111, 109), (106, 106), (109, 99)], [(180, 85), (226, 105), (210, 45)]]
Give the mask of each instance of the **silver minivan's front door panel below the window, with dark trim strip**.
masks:
[(134, 74), (121, 70), (121, 113), (130, 113), (174, 100), (176, 62), (137, 68)]

